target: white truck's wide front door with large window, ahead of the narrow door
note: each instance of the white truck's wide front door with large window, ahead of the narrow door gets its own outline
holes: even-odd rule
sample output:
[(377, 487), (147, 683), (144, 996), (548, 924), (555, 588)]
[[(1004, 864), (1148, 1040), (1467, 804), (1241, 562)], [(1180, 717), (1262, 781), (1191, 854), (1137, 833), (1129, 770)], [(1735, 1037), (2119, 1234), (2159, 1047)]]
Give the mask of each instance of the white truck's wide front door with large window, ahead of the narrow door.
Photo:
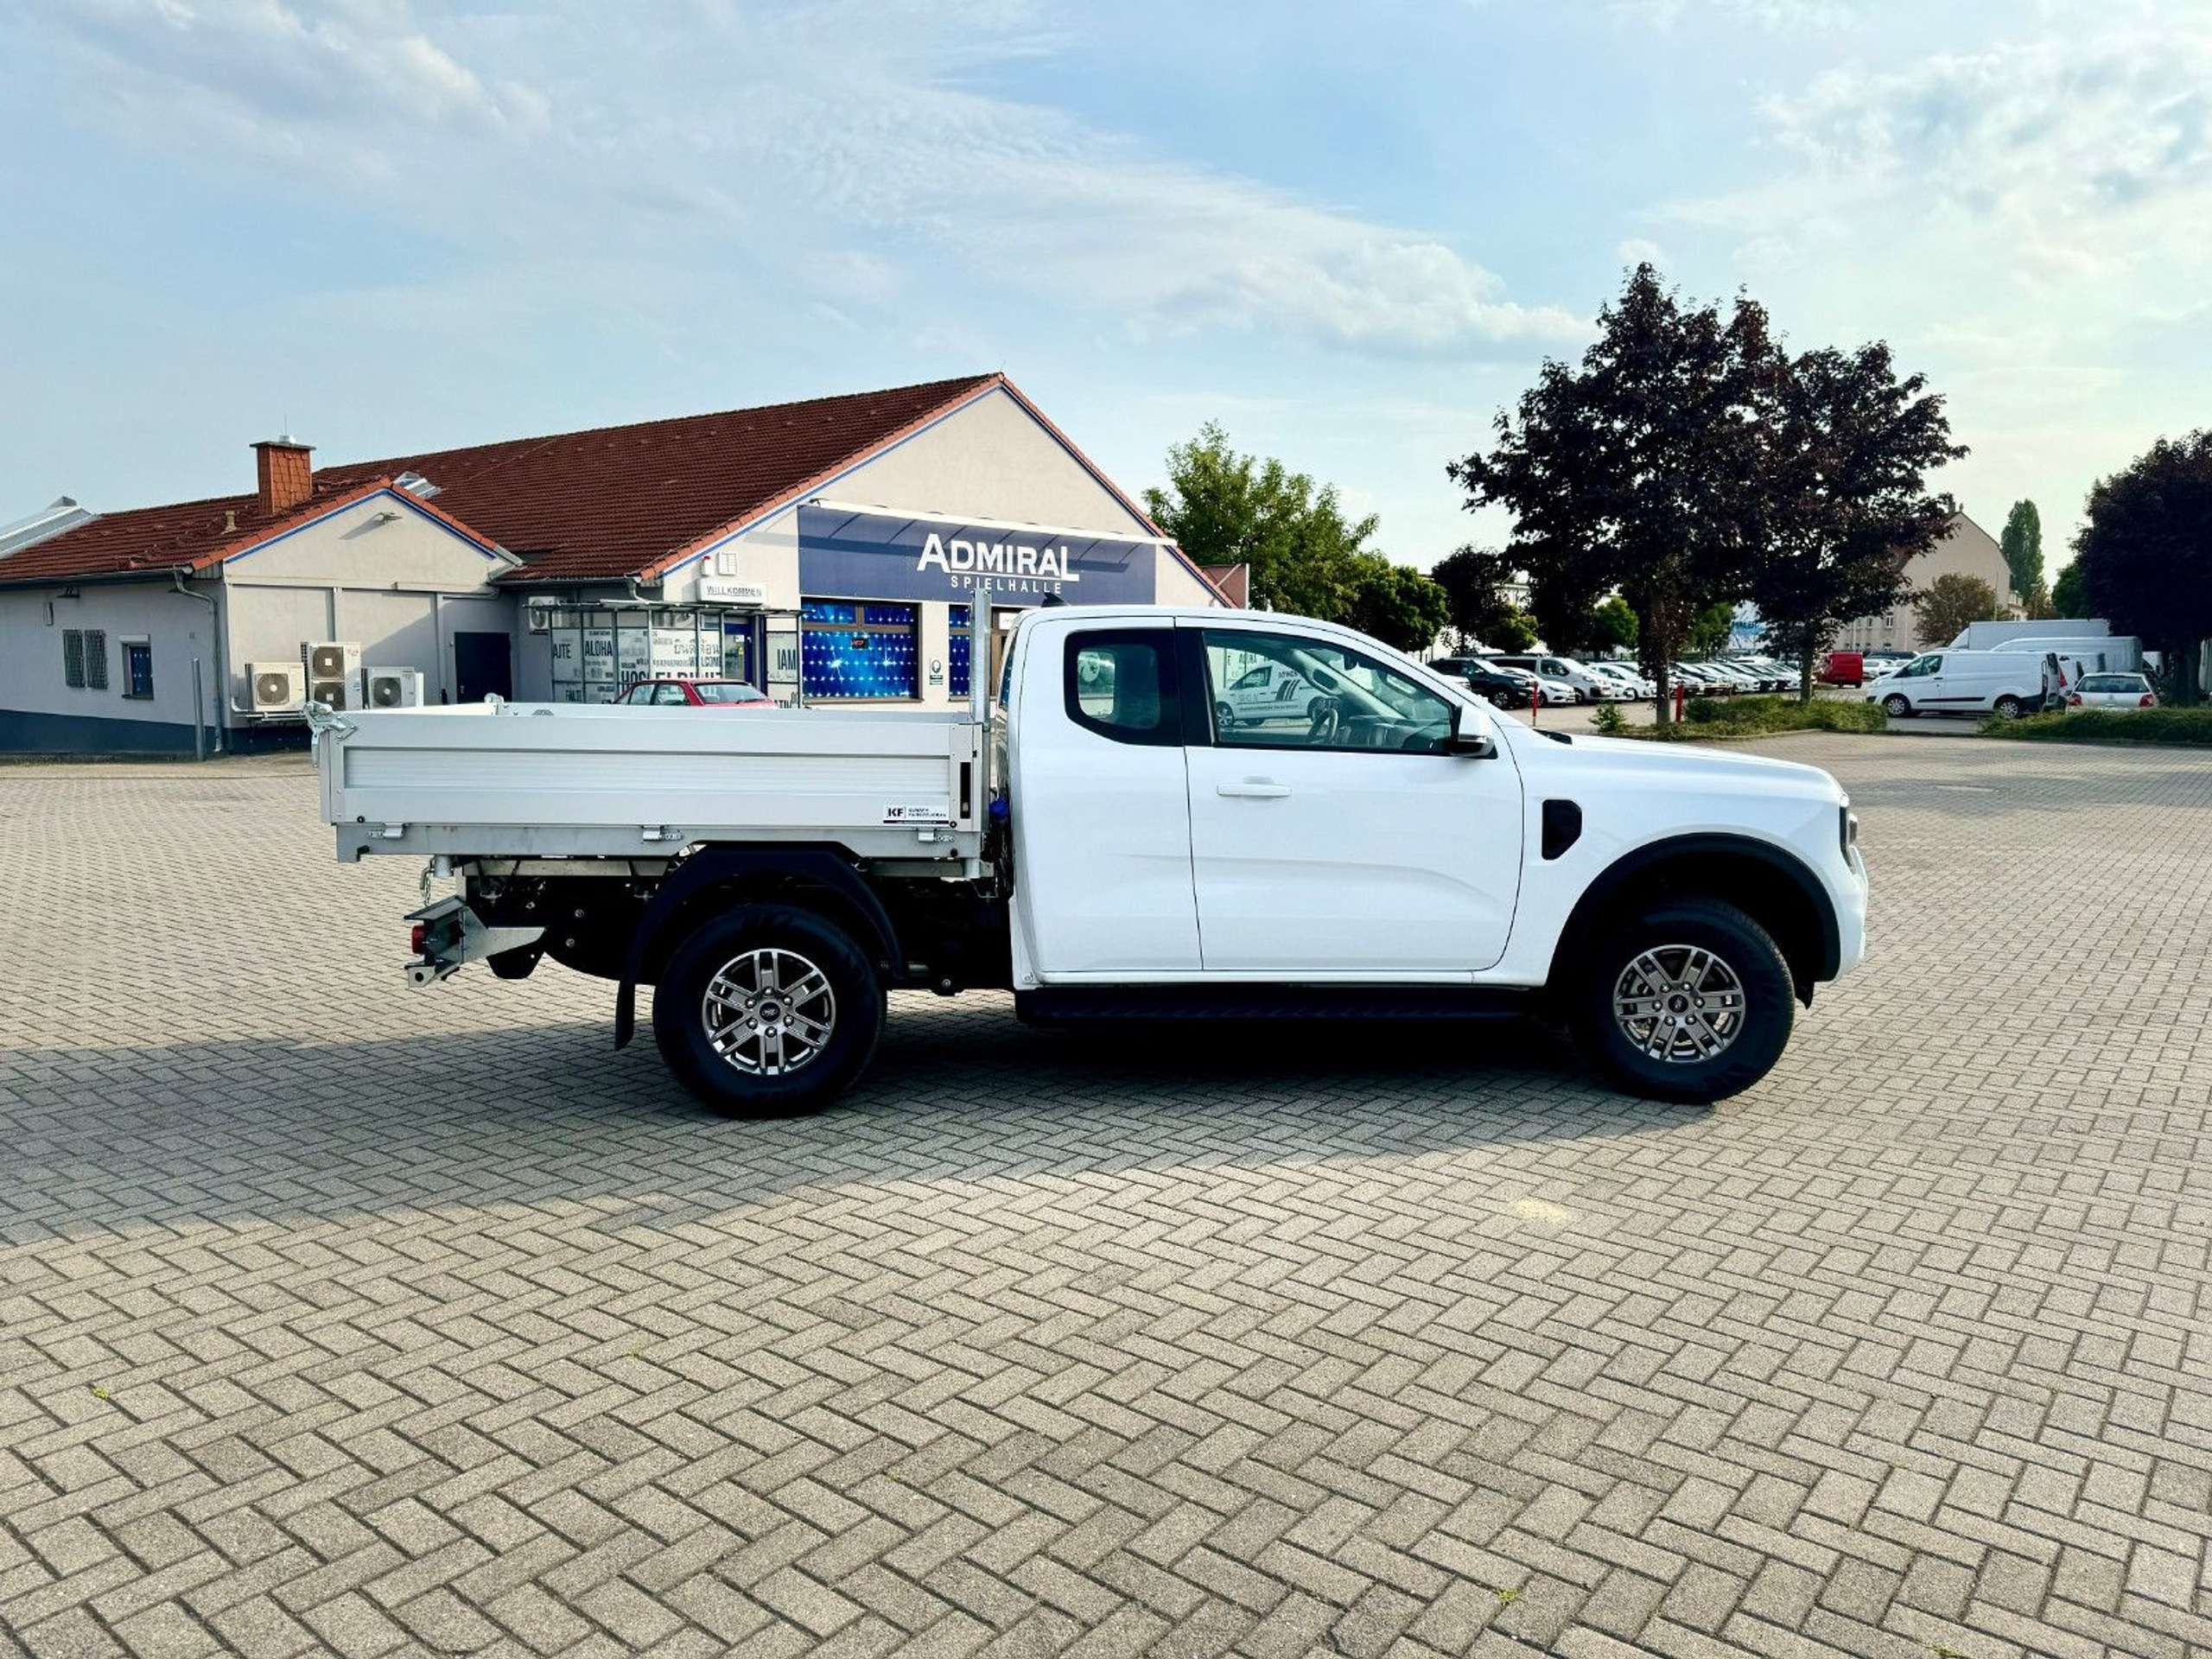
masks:
[[(1318, 719), (1194, 723), (1190, 863), (1208, 973), (1449, 980), (1504, 956), (1522, 872), (1511, 752), (1442, 752), (1453, 703), (1325, 635), (1217, 628), (1186, 672), (1228, 686), (1283, 661)], [(1208, 690), (1199, 710), (1219, 699)]]

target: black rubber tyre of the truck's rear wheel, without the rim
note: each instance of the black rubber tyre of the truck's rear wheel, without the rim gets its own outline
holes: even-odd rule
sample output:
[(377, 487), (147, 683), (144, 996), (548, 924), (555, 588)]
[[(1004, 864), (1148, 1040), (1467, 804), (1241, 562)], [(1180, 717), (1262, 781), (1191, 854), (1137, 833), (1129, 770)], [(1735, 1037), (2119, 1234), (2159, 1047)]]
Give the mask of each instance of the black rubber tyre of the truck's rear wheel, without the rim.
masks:
[[(827, 1037), (810, 1057), (781, 1073), (723, 1060), (708, 1029), (708, 987), (752, 951), (801, 958), (827, 982)], [(825, 1004), (807, 1000), (805, 1011), (818, 1024)], [(783, 1031), (799, 1029), (790, 1011), (770, 1006), (770, 1024), (779, 1018), (790, 1022)], [(653, 1040), (661, 1060), (677, 1082), (726, 1117), (796, 1117), (821, 1110), (867, 1068), (883, 1037), (883, 1020), (885, 993), (876, 964), (843, 927), (796, 905), (743, 905), (714, 916), (675, 949), (653, 991)], [(774, 1048), (787, 1055), (783, 1035)], [(765, 1053), (763, 1046), (754, 1062), (765, 1060)]]

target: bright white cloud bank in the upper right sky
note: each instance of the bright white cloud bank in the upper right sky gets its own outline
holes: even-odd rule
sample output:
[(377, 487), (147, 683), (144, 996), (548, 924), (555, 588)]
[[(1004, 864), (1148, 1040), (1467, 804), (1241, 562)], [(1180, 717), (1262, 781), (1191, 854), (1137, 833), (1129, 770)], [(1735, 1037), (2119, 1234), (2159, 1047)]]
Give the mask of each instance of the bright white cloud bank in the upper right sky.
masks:
[(1978, 513), (2035, 495), (2064, 542), (2095, 473), (2201, 420), (2177, 356), (2205, 338), (2212, 20), (2042, 22), (1761, 100), (1767, 177), (1659, 217), (1725, 237), (1785, 325), (1891, 338), (1975, 449), (1942, 482)]

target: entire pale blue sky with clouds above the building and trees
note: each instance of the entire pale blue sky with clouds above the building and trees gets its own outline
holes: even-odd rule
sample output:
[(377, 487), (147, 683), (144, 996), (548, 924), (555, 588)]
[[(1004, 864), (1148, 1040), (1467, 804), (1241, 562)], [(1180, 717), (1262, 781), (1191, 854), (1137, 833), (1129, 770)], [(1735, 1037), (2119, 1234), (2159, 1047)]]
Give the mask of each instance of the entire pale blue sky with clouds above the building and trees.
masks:
[(2212, 7), (0, 0), (0, 520), (1006, 369), (1431, 564), (1624, 265), (1887, 338), (2053, 555), (2212, 422)]

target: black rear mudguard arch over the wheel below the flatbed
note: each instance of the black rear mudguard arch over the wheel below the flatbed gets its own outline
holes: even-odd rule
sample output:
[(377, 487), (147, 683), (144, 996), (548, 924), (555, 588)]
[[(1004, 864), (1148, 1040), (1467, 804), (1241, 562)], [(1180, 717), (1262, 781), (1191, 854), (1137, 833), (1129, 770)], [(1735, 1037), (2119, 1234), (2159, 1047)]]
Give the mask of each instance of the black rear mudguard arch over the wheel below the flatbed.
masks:
[(803, 905), (852, 933), (876, 958), (885, 984), (905, 978), (898, 927), (883, 896), (836, 847), (697, 847), (655, 889), (615, 993), (615, 1046), (637, 1031), (637, 987), (650, 984), (690, 922), (734, 905), (776, 898)]

